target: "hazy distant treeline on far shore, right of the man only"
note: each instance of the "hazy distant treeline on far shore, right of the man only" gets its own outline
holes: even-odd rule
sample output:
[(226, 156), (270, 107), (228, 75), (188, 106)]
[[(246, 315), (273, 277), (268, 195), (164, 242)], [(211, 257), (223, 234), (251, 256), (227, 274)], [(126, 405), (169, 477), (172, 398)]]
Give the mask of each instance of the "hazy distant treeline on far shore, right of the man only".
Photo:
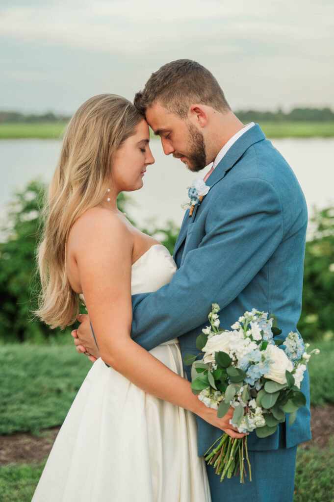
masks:
[(330, 108), (293, 108), (289, 113), (277, 111), (239, 110), (235, 112), (242, 122), (332, 122)]

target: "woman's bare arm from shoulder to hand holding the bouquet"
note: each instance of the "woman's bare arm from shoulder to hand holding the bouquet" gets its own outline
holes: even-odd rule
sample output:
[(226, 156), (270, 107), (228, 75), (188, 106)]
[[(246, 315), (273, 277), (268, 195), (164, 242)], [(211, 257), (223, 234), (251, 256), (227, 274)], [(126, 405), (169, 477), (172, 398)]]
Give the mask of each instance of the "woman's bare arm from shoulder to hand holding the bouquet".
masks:
[(75, 247), (80, 284), (103, 361), (148, 394), (196, 413), (232, 437), (242, 437), (229, 424), (232, 416), (218, 419), (215, 410), (193, 395), (190, 382), (132, 340), (132, 242), (124, 224), (110, 217), (85, 222)]

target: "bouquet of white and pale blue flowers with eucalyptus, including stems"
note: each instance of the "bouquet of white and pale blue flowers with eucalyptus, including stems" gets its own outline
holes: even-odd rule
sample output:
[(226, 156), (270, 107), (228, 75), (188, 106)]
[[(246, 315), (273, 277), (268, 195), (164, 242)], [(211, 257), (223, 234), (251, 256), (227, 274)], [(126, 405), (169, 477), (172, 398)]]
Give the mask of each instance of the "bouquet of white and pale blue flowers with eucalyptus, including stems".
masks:
[[(319, 350), (308, 353), (309, 344), (292, 331), (284, 341), (274, 340), (282, 332), (275, 315), (256, 309), (245, 312), (232, 330), (221, 330), (219, 310), (213, 303), (208, 315), (210, 326), (197, 337), (202, 359), (193, 354), (184, 357), (184, 363), (192, 365), (192, 392), (205, 406), (217, 410), (219, 418), (234, 408), (230, 423), (239, 432), (255, 430), (259, 438), (270, 436), (285, 421), (286, 413), (291, 425), (298, 408), (305, 406), (305, 396), (299, 389), (311, 354)], [(222, 434), (205, 453), (205, 460), (216, 468), (220, 481), (240, 473), (243, 483), (246, 464), (252, 480), (247, 436), (233, 439)]]

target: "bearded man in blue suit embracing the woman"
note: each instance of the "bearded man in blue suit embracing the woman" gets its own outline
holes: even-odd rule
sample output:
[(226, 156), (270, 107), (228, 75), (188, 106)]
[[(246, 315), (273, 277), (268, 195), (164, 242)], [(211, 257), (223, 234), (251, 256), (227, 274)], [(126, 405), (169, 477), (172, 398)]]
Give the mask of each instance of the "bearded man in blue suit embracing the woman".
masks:
[[(282, 337), (296, 331), (307, 210), (288, 164), (258, 124), (244, 127), (213, 75), (194, 61), (162, 66), (136, 94), (135, 105), (160, 136), (166, 155), (194, 173), (213, 166), (207, 195), (184, 216), (171, 283), (133, 297), (134, 340), (150, 350), (178, 336), (183, 354), (197, 354), (195, 340), (211, 303), (220, 306), (221, 326), (227, 329), (255, 307), (276, 314)], [(76, 345), (90, 343), (89, 319), (82, 317)], [(307, 374), (301, 390), (307, 406), (292, 426), (279, 424), (264, 439), (250, 434), (252, 482), (246, 478), (243, 485), (233, 477), (220, 484), (207, 466), (212, 502), (292, 502), (297, 444), (310, 439)], [(221, 431), (196, 418), (203, 455)]]

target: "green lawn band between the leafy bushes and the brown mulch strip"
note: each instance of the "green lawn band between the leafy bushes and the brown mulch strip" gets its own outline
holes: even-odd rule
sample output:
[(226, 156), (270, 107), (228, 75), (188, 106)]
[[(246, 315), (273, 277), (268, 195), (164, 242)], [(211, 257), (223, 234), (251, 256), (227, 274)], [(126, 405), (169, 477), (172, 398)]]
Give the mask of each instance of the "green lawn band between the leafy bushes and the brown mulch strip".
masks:
[[(60, 425), (91, 363), (68, 345), (3, 345), (0, 348), (0, 434), (38, 433)], [(334, 343), (315, 344), (309, 363), (311, 403), (334, 403)]]

